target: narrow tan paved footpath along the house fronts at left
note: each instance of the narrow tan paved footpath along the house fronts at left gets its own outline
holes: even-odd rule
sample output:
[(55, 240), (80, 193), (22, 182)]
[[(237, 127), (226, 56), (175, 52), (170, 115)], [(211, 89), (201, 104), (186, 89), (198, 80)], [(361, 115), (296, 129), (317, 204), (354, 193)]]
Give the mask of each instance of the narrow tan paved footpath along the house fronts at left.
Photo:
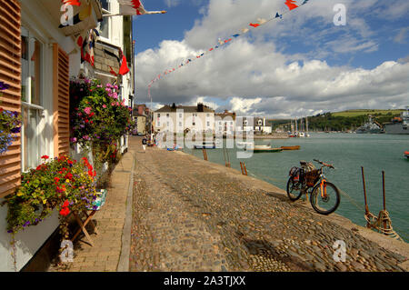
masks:
[[(132, 151), (132, 146), (128, 150)], [(111, 187), (107, 188), (105, 205), (94, 215), (93, 221), (95, 221), (99, 232), (99, 235), (95, 233), (91, 235), (94, 246), (89, 245), (85, 235), (81, 234), (74, 243), (74, 263), (65, 266), (53, 265), (49, 271), (127, 271), (128, 263), (126, 262), (128, 261), (125, 259), (129, 260), (129, 249), (125, 249), (125, 253), (123, 253), (122, 247), (126, 244), (126, 236), (123, 237), (126, 216), (129, 219), (132, 216), (132, 212), (127, 213), (126, 201), (133, 163), (134, 155), (128, 152), (115, 167), (111, 178)], [(87, 225), (86, 228), (89, 229), (89, 233), (93, 233), (92, 226)], [(130, 235), (125, 231), (126, 234)], [(123, 254), (122, 260), (121, 254)]]

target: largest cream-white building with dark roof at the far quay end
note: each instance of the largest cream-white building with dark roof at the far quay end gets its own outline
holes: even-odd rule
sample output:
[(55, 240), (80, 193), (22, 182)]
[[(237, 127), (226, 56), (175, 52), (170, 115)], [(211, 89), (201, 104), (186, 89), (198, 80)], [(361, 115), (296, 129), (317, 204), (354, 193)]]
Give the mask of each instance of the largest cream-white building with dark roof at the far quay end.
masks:
[(214, 110), (207, 105), (164, 105), (154, 112), (155, 132), (214, 134)]

